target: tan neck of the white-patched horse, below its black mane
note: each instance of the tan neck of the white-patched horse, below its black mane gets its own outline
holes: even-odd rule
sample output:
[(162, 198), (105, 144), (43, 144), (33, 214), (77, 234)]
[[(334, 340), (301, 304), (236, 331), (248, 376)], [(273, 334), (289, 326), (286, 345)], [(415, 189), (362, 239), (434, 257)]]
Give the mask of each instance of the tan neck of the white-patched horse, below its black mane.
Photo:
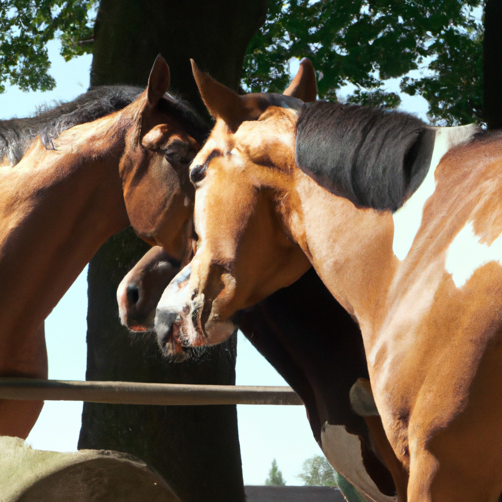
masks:
[(295, 188), (283, 199), (285, 226), (371, 344), (399, 265), (392, 215), (359, 209), (296, 171)]

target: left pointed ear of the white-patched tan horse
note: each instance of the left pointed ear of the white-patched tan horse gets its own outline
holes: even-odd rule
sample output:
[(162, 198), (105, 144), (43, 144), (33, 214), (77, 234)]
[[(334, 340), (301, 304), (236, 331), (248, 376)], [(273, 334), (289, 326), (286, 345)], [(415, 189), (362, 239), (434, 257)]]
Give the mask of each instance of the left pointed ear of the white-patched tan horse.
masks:
[(230, 130), (235, 132), (247, 115), (242, 98), (232, 89), (200, 71), (193, 59), (190, 62), (195, 82), (209, 113), (224, 120)]

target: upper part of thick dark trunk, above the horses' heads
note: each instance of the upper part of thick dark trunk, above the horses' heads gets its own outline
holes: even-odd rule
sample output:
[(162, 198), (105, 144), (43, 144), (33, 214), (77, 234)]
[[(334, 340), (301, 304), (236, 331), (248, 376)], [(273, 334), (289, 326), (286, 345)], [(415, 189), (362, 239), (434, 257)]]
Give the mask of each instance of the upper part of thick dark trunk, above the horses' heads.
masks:
[(155, 56), (171, 86), (207, 113), (189, 59), (231, 89), (246, 48), (265, 22), (269, 0), (101, 0), (94, 28), (91, 85), (146, 85)]

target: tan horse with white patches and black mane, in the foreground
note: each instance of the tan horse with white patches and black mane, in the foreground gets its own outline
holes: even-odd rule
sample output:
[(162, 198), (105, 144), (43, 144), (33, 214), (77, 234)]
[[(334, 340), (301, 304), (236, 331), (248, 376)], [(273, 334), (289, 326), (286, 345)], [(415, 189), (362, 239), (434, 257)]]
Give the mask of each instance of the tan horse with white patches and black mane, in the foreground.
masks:
[[(157, 317), (163, 304), (177, 305), (182, 341), (217, 343), (237, 310), (312, 264), (361, 328), (376, 406), (409, 471), (408, 500), (497, 500), (499, 134), (460, 129), (445, 148), (441, 131), (406, 114), (238, 96), (194, 72), (217, 117), (190, 173), (199, 248), (189, 286), (173, 288), (177, 298), (163, 298)], [(437, 157), (436, 183), (401, 262), (393, 212), (399, 219), (414, 203)], [(455, 252), (466, 243), (482, 254), (466, 254), (462, 269)], [(343, 434), (333, 426), (322, 433), (333, 465), (330, 438)]]

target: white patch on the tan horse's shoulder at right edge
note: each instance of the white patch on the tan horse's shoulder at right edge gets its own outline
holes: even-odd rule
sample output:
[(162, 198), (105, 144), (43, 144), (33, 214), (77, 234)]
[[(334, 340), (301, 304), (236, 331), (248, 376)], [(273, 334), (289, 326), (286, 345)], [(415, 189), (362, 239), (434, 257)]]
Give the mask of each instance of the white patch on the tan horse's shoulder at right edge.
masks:
[(451, 274), (457, 288), (461, 288), (474, 271), (488, 262), (498, 262), (502, 258), (502, 235), (491, 245), (479, 242), (472, 222), (467, 223), (452, 240), (446, 250), (445, 269)]

